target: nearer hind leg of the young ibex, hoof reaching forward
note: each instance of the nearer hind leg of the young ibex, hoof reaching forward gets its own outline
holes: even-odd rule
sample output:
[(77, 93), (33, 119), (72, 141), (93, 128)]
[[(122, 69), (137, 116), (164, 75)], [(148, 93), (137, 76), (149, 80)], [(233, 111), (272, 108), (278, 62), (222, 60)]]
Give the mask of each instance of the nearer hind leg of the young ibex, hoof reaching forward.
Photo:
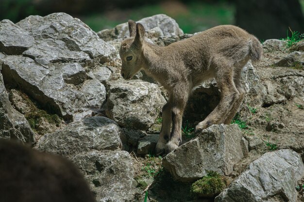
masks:
[[(235, 103), (239, 100), (240, 93), (236, 89), (234, 82), (233, 67), (229, 67), (228, 62), (220, 61), (223, 68), (219, 68), (216, 74), (216, 80), (221, 92), (220, 103), (218, 106), (196, 127), (196, 131), (201, 131), (213, 124), (223, 124), (233, 109)], [(226, 64), (226, 66), (223, 66)]]

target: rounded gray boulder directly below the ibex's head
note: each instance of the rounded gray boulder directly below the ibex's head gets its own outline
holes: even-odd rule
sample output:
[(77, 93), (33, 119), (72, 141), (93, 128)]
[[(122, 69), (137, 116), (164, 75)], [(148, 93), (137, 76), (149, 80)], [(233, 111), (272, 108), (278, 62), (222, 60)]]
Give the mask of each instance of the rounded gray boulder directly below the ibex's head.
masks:
[(123, 127), (147, 130), (166, 103), (153, 83), (118, 80), (109, 83), (108, 89), (106, 115)]

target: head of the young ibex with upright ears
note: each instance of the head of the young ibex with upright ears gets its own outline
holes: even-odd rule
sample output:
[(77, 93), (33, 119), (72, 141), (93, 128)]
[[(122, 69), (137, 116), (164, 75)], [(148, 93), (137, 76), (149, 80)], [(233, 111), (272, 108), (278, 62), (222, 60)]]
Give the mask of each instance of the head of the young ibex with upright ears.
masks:
[(122, 62), (121, 76), (131, 79), (143, 66), (145, 29), (142, 24), (129, 20), (130, 38), (121, 42), (119, 56)]

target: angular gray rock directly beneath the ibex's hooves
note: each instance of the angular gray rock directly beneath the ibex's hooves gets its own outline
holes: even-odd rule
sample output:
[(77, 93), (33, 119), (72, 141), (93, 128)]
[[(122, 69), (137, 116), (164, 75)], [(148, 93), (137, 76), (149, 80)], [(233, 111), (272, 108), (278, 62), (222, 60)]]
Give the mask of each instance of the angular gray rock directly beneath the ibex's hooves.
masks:
[(163, 166), (173, 178), (182, 182), (202, 178), (207, 171), (229, 175), (233, 166), (243, 158), (244, 149), (246, 145), (236, 124), (212, 125), (196, 139), (169, 153), (163, 159)]

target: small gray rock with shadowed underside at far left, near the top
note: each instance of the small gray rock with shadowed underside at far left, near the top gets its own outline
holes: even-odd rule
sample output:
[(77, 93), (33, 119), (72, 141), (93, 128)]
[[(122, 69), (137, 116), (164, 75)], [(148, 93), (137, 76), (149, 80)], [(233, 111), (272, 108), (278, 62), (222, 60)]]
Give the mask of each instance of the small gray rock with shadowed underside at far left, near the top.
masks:
[(0, 21), (0, 52), (20, 55), (34, 45), (34, 38), (10, 20)]

